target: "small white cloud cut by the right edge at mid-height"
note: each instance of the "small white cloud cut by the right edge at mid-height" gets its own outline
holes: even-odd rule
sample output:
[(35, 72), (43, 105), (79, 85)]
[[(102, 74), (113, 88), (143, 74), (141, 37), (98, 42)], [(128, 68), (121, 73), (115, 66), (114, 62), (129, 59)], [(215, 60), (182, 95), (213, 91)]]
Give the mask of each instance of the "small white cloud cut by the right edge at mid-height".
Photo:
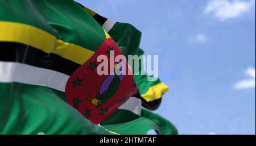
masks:
[(249, 79), (242, 80), (240, 82), (237, 82), (237, 84), (234, 86), (235, 89), (250, 89), (255, 88), (255, 68), (249, 68), (246, 70), (245, 74), (249, 76)]

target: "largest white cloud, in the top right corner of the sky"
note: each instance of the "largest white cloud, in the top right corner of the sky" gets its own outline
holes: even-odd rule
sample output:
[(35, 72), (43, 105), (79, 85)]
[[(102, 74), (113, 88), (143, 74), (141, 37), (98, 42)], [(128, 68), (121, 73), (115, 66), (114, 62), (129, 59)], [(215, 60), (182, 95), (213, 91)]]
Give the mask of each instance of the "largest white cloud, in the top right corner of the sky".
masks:
[(237, 18), (255, 8), (255, 0), (210, 0), (204, 13), (213, 14), (221, 21)]

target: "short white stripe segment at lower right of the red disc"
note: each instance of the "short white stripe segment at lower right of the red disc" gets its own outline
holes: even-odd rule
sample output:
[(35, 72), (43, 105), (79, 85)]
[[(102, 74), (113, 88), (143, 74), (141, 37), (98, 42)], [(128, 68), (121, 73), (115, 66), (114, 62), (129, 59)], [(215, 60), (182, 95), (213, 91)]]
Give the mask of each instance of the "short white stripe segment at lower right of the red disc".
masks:
[(118, 109), (123, 109), (123, 110), (129, 110), (134, 112), (137, 115), (141, 115), (141, 99), (136, 98), (136, 97), (131, 97), (125, 104), (120, 106)]

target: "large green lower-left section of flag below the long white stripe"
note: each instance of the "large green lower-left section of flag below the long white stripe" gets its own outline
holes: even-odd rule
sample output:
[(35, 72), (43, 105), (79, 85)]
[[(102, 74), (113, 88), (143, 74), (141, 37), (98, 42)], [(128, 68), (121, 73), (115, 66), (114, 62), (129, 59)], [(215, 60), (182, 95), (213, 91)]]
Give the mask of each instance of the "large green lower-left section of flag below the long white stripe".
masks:
[(0, 134), (109, 134), (60, 97), (45, 86), (0, 83)]

